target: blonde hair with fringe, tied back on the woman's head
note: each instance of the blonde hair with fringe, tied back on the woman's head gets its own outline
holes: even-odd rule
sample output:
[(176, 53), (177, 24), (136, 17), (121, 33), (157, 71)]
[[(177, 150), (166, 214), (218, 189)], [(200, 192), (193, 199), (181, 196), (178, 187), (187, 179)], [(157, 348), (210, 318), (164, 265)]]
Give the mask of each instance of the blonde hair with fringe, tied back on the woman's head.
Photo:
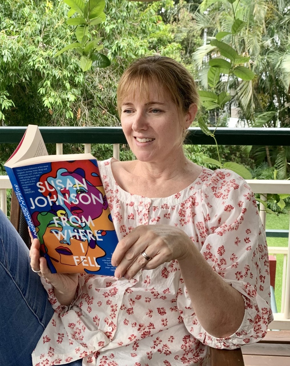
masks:
[(149, 56), (134, 61), (123, 73), (117, 88), (119, 115), (123, 100), (140, 90), (140, 96), (149, 98), (150, 91), (169, 92), (179, 112), (186, 114), (199, 97), (194, 79), (179, 62), (165, 56)]

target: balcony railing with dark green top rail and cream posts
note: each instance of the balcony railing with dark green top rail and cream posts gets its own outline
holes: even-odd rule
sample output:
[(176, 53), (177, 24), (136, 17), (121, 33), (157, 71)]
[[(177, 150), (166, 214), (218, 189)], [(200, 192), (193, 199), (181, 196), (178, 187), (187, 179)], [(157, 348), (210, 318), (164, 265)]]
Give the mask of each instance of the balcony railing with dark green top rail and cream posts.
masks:
[[(0, 127), (0, 143), (18, 143), (26, 127)], [(126, 143), (120, 127), (40, 127), (46, 143), (55, 143), (57, 154), (62, 154), (63, 143), (83, 143), (84, 152), (91, 152), (91, 143), (108, 143), (113, 145), (113, 155), (119, 158), (119, 144)], [(214, 130), (214, 128), (210, 128)], [(215, 137), (219, 145), (277, 145), (290, 146), (289, 128), (218, 128)], [(199, 128), (190, 128), (186, 143), (213, 145), (213, 138), (203, 134)], [(254, 193), (261, 194), (267, 200), (267, 194), (290, 194), (289, 180), (248, 180)], [(0, 176), (0, 207), (7, 214), (7, 189), (11, 183), (7, 176)], [(260, 217), (266, 227), (266, 212), (260, 207)], [(269, 235), (269, 234), (268, 234)], [(272, 231), (271, 236), (277, 236)], [(283, 254), (282, 270), (282, 305), (281, 313), (274, 315), (270, 329), (290, 329), (290, 237), (289, 231), (282, 232), (288, 236), (287, 247), (268, 247), (269, 254)], [(281, 236), (281, 234), (279, 234)]]

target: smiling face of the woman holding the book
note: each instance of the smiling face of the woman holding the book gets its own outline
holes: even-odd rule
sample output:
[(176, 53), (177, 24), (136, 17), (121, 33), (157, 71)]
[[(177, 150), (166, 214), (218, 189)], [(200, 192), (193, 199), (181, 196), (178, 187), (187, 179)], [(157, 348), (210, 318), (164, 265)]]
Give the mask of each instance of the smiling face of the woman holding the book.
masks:
[(136, 90), (122, 101), (121, 124), (127, 142), (140, 161), (168, 160), (174, 152), (182, 151), (180, 140), (188, 127), (187, 117), (165, 90), (152, 88), (149, 98), (139, 95)]

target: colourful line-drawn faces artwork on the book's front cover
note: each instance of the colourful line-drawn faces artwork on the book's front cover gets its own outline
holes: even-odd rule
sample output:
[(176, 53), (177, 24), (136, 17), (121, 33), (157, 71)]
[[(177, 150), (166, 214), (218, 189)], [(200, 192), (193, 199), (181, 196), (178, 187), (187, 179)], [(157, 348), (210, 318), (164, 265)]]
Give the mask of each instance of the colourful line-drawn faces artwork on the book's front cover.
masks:
[(69, 266), (70, 273), (98, 274), (103, 267), (113, 275), (110, 258), (118, 240), (95, 161), (42, 165), (30, 209), (51, 272)]

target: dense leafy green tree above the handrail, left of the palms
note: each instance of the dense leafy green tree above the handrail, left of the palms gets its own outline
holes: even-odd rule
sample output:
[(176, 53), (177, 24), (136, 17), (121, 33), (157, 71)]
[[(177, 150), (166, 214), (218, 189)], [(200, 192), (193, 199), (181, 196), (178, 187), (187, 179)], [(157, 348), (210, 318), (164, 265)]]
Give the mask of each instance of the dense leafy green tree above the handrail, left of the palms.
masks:
[[(92, 24), (92, 20), (99, 18), (90, 14), (96, 14), (100, 8), (86, 10), (82, 3), (88, 1), (69, 1), (73, 7), (69, 11), (69, 6), (60, 0), (0, 2), (0, 121), (3, 124), (119, 125), (116, 87), (128, 64), (156, 52), (180, 60), (181, 45), (174, 39), (173, 28), (157, 14), (161, 7), (170, 8), (172, 1), (147, 4), (112, 0), (106, 1), (104, 9), (104, 2), (97, 1), (97, 5), (103, 4), (101, 8), (106, 13), (106, 19), (102, 15), (104, 21), (99, 24)], [(84, 45), (80, 46), (83, 39), (77, 40), (75, 28), (66, 23), (68, 16), (69, 23), (78, 22), (77, 18), (81, 17), (89, 19), (89, 40)], [(72, 49), (53, 57), (66, 46)], [(100, 46), (104, 55), (96, 51)], [(107, 60), (105, 56), (111, 60), (111, 66), (94, 67), (94, 64), (102, 66)], [(80, 62), (84, 69), (88, 68), (85, 73)]]

